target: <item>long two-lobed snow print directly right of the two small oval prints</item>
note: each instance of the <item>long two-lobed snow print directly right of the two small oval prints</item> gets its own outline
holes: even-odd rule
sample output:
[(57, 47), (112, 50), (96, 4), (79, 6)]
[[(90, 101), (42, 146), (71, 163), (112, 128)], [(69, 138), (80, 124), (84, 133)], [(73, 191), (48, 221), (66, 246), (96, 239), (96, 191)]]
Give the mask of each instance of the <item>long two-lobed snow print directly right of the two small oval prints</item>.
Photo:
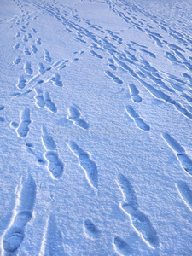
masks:
[(137, 196), (131, 186), (131, 183), (121, 173), (119, 174), (117, 183), (124, 199), (120, 207), (130, 217), (133, 228), (149, 247), (158, 247), (159, 239), (156, 231), (154, 230), (148, 216), (138, 209)]

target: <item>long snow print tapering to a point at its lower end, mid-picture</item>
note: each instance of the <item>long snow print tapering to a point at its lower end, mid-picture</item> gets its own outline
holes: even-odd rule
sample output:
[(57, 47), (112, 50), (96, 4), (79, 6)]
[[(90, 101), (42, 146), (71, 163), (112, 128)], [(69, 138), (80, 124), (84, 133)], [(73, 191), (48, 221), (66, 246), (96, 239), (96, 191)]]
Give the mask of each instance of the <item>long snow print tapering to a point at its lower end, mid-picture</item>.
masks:
[(96, 163), (93, 160), (90, 160), (90, 155), (86, 153), (83, 149), (79, 148), (79, 146), (70, 141), (68, 143), (69, 148), (78, 157), (79, 166), (84, 170), (85, 177), (87, 178), (88, 183), (91, 187), (97, 189), (98, 187), (98, 178), (97, 178), (97, 167)]

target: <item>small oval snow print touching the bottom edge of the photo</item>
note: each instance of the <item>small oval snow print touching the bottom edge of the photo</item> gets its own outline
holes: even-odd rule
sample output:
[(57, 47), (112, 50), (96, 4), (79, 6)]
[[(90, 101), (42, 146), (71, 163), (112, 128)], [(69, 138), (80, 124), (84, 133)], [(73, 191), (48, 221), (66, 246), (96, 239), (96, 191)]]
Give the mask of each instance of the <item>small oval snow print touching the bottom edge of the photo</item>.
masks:
[(131, 247), (120, 236), (114, 236), (113, 247), (120, 255), (131, 255)]

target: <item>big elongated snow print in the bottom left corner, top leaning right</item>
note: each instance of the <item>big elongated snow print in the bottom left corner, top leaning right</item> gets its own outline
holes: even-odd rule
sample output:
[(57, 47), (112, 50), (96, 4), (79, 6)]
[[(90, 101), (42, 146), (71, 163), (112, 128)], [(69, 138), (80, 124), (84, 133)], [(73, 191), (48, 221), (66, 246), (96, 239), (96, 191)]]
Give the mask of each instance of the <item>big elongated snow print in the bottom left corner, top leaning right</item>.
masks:
[(3, 235), (3, 249), (7, 253), (14, 253), (25, 236), (25, 226), (32, 218), (32, 208), (36, 198), (36, 183), (31, 175), (28, 175), (23, 184), (18, 204), (15, 206), (15, 217), (9, 229)]

